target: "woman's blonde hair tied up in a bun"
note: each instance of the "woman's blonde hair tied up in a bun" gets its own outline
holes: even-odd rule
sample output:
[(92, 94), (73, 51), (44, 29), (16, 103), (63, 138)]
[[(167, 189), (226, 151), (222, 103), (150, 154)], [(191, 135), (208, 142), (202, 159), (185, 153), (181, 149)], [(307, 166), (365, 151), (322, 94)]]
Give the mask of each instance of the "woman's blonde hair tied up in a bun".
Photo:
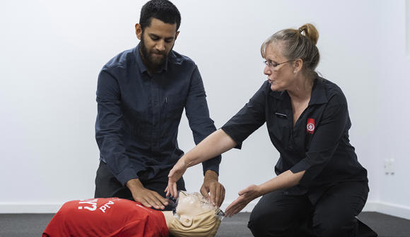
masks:
[(281, 52), (288, 60), (302, 59), (303, 70), (310, 78), (317, 77), (315, 69), (320, 61), (319, 49), (316, 47), (319, 32), (312, 24), (302, 25), (298, 30), (286, 29), (276, 32), (263, 42), (261, 47), (262, 57), (265, 58), (266, 47), (273, 42), (283, 42)]

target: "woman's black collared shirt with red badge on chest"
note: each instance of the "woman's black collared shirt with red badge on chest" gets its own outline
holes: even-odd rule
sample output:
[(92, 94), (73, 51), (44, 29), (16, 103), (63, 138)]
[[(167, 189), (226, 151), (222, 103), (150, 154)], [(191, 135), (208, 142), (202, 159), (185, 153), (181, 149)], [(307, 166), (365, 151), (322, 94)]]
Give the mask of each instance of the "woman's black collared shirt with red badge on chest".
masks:
[(310, 102), (295, 126), (288, 92), (274, 92), (270, 87), (266, 80), (250, 102), (222, 127), (239, 149), (242, 141), (266, 122), (271, 142), (280, 153), (276, 174), (305, 170), (298, 186), (285, 193), (307, 194), (312, 203), (336, 183), (368, 181), (367, 171), (348, 140), (351, 121), (346, 97), (336, 84), (315, 79)]

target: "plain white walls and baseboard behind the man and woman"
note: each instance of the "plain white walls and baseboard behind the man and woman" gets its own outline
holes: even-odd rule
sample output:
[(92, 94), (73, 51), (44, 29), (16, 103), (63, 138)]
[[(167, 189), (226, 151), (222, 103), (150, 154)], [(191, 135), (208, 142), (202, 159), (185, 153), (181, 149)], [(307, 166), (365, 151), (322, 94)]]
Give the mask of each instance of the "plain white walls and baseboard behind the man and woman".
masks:
[[(366, 209), (410, 219), (409, 0), (173, 2), (182, 14), (174, 49), (199, 66), (217, 128), (266, 80), (259, 53), (264, 39), (283, 28), (316, 25), (317, 70), (344, 90), (351, 143), (368, 169)], [(3, 4), (0, 212), (55, 212), (67, 200), (93, 197), (97, 76), (109, 59), (138, 44), (134, 24), (144, 3)], [(185, 116), (179, 142), (186, 152), (194, 146)], [(223, 207), (242, 188), (273, 178), (278, 157), (265, 126), (242, 150), (223, 154)], [(394, 174), (385, 174), (385, 159), (394, 159)], [(185, 182), (199, 191), (201, 166), (189, 169)]]

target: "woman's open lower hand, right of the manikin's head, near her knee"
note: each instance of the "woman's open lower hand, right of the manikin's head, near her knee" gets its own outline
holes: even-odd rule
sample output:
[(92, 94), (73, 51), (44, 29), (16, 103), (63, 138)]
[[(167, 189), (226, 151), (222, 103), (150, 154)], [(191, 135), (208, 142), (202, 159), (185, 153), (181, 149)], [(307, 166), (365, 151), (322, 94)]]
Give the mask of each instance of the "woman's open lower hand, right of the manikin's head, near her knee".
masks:
[(238, 193), (239, 197), (233, 201), (228, 207), (225, 209), (226, 217), (232, 217), (234, 214), (237, 214), (242, 210), (246, 205), (254, 200), (257, 197), (262, 195), (259, 186), (251, 185), (245, 188), (244, 190), (240, 190)]

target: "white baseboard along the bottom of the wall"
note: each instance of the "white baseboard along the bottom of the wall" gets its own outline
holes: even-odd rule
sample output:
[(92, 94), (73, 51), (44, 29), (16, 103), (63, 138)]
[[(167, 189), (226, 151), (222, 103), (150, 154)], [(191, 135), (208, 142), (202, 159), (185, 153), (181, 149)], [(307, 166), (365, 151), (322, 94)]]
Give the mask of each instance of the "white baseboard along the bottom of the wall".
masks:
[[(225, 210), (231, 202), (223, 202)], [(252, 212), (257, 201), (250, 202), (241, 212)], [(55, 213), (63, 203), (0, 203), (0, 213)], [(367, 202), (363, 212), (380, 212), (394, 217), (410, 219), (410, 207), (387, 202)]]

